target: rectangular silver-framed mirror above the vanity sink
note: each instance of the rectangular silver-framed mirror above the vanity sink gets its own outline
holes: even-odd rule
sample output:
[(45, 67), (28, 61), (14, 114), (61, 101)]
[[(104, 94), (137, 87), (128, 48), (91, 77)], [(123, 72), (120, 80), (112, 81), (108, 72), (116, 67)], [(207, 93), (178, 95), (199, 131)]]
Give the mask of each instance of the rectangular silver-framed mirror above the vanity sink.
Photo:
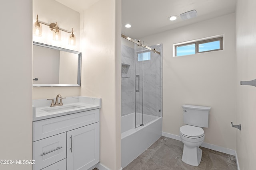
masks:
[(33, 42), (33, 87), (81, 86), (82, 53)]

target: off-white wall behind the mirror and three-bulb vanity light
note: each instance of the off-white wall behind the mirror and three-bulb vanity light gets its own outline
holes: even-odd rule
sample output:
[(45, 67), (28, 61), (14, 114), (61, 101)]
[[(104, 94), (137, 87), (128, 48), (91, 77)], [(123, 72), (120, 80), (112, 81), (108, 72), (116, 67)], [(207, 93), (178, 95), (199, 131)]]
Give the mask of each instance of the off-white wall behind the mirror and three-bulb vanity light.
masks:
[[(37, 14), (41, 22), (50, 24), (57, 21), (58, 26), (67, 31), (74, 28), (76, 46), (68, 45), (70, 33), (64, 31), (61, 31), (62, 41), (53, 41), (52, 31), (46, 25), (42, 25), (42, 37), (33, 36), (33, 41), (80, 51), (80, 14), (78, 12), (55, 0), (33, 0), (33, 21), (36, 21)], [(62, 97), (80, 96), (80, 89), (80, 87), (34, 87), (33, 99), (55, 98), (57, 94), (61, 94)]]

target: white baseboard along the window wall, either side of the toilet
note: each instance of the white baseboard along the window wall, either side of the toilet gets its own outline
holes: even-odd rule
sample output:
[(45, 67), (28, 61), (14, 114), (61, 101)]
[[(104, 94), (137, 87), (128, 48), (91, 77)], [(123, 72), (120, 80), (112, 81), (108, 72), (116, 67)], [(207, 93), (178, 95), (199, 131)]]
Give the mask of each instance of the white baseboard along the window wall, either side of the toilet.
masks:
[[(166, 133), (166, 132), (162, 132), (162, 135), (164, 137), (168, 137), (168, 138), (171, 138), (171, 139), (176, 139), (178, 141), (181, 141), (180, 140), (180, 136), (178, 135), (173, 135), (173, 134), (170, 134), (170, 133)], [(224, 147), (219, 147), (217, 145), (213, 145), (213, 144), (210, 144), (210, 143), (202, 143), (202, 145), (200, 145), (201, 147), (204, 147), (204, 148), (208, 148), (208, 149), (212, 149), (212, 150), (216, 150), (218, 152), (222, 152), (222, 153), (226, 153), (226, 154), (230, 154), (230, 155), (233, 155), (235, 156), (235, 150), (232, 150), (232, 149), (228, 149), (228, 148), (224, 148)]]

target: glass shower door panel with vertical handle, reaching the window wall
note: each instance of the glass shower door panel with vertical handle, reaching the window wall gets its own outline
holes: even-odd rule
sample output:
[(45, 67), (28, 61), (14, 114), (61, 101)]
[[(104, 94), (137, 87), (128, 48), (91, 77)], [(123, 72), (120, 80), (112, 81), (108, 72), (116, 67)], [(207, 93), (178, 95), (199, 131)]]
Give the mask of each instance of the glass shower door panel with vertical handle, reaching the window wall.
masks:
[(150, 48), (161, 51), (162, 46), (135, 46), (135, 127), (161, 116), (161, 57)]

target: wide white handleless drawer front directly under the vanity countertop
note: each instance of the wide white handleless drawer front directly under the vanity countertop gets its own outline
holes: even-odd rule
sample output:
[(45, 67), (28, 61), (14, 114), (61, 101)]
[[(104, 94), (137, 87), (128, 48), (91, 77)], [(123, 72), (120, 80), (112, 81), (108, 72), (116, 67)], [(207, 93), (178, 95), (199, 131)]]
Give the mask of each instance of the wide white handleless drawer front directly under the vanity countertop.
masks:
[(33, 122), (33, 141), (90, 125), (100, 120), (100, 109)]

